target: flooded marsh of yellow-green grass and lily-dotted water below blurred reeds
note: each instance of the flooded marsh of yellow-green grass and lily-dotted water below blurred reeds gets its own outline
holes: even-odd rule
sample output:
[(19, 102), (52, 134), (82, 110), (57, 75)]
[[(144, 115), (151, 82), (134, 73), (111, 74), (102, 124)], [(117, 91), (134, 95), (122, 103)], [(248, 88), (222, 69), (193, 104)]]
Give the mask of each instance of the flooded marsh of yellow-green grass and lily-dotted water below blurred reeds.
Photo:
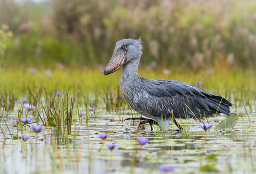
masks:
[[(206, 132), (205, 144), (204, 130), (194, 119), (178, 120), (185, 128), (183, 132), (178, 132), (172, 123), (169, 132), (161, 132), (157, 126), (153, 131), (149, 125), (137, 128), (138, 121), (130, 121), (130, 130), (125, 130), (123, 120), (140, 115), (123, 98), (116, 82), (119, 73), (104, 77), (99, 68), (62, 68), (51, 70), (49, 77), (40, 69), (2, 69), (1, 172), (21, 172), (21, 167), (22, 172), (52, 173), (161, 173), (164, 169), (178, 173), (253, 172), (254, 72), (230, 69), (221, 76), (216, 69), (210, 74), (206, 71), (194, 73), (189, 80), (179, 70), (171, 75), (139, 71), (146, 77), (177, 78), (192, 84), (200, 79), (201, 87), (232, 101), (237, 124), (220, 131), (215, 128), (225, 116), (208, 118), (212, 127)], [(237, 72), (239, 76), (234, 76)], [(93, 82), (88, 80), (92, 78)], [(32, 118), (27, 130), (21, 121), (26, 117)], [(44, 130), (35, 133), (32, 125), (37, 124), (43, 125)], [(29, 139), (23, 141), (23, 134)], [(108, 134), (107, 138), (102, 134)], [(145, 145), (137, 140), (141, 136), (149, 138)], [(116, 145), (113, 150), (108, 148), (111, 144)]]

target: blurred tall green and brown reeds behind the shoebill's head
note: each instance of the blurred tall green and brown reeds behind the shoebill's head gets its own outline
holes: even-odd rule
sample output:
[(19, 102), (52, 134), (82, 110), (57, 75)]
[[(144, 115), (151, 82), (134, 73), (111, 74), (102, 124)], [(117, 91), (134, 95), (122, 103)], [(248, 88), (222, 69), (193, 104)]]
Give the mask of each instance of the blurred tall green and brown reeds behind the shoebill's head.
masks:
[(254, 0), (0, 0), (1, 25), (3, 67), (106, 65), (139, 37), (142, 65), (256, 66)]

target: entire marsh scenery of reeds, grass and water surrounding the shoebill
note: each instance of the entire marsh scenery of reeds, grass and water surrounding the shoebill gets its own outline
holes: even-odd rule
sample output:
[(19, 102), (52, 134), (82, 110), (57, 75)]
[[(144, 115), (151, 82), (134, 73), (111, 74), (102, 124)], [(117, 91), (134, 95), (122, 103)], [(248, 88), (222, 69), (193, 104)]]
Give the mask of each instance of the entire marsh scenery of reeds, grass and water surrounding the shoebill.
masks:
[[(253, 0), (0, 0), (0, 173), (256, 172), (255, 12)], [(121, 71), (103, 69), (116, 41), (139, 37), (141, 77), (221, 94), (234, 114), (178, 119), (181, 132), (124, 122), (141, 115)]]

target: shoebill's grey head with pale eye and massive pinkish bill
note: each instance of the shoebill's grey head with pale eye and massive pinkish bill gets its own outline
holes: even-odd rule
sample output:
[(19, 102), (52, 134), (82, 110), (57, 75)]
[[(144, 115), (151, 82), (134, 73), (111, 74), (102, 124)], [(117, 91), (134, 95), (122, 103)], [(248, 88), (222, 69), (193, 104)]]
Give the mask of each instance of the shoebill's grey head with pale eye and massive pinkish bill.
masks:
[(139, 62), (142, 55), (141, 39), (123, 39), (116, 43), (114, 53), (104, 69), (104, 75), (111, 74), (132, 61)]

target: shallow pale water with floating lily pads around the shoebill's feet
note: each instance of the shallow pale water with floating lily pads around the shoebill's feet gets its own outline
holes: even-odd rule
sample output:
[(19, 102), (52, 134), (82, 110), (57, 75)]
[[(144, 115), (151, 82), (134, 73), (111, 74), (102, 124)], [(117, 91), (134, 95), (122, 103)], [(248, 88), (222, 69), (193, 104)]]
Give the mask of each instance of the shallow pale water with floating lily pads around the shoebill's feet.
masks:
[[(17, 128), (12, 126), (16, 124), (16, 112), (12, 112), (6, 119), (12, 135), (17, 135)], [(123, 119), (130, 115), (129, 110), (125, 113)], [(71, 134), (81, 136), (68, 136), (67, 145), (56, 145), (55, 127), (45, 128), (38, 134), (37, 141), (31, 128), (28, 128), (30, 139), (26, 142), (12, 140), (2, 121), (0, 172), (161, 173), (159, 165), (168, 164), (174, 166), (177, 173), (198, 173), (199, 168), (204, 165), (210, 165), (220, 173), (253, 173), (256, 172), (256, 114), (255, 111), (249, 113), (252, 121), (249, 123), (243, 108), (238, 113), (243, 113), (244, 117), (239, 117), (233, 131), (214, 131), (214, 127), (218, 125), (214, 120), (221, 121), (225, 117), (209, 118), (213, 127), (207, 132), (206, 145), (204, 132), (197, 121), (192, 119), (180, 121), (187, 126), (187, 135), (176, 131), (177, 128), (173, 125), (170, 125), (170, 131), (166, 133), (157, 131), (156, 126), (154, 131), (150, 131), (148, 124), (145, 130), (137, 130), (138, 121), (134, 121), (134, 125), (130, 121), (131, 129), (125, 131), (122, 119), (118, 123), (118, 114), (101, 111), (88, 121), (88, 125), (85, 120), (82, 125), (79, 121), (73, 122)], [(78, 120), (78, 115), (74, 114), (74, 118)], [(112, 130), (106, 144), (116, 143), (118, 147), (113, 150), (111, 157), (111, 151), (106, 146), (99, 151), (103, 140), (98, 134)], [(5, 133), (6, 140), (3, 145)], [(19, 136), (20, 134), (21, 131)], [(137, 136), (148, 137), (149, 143), (141, 147), (136, 140)], [(211, 154), (216, 154), (216, 157), (207, 159)]]

